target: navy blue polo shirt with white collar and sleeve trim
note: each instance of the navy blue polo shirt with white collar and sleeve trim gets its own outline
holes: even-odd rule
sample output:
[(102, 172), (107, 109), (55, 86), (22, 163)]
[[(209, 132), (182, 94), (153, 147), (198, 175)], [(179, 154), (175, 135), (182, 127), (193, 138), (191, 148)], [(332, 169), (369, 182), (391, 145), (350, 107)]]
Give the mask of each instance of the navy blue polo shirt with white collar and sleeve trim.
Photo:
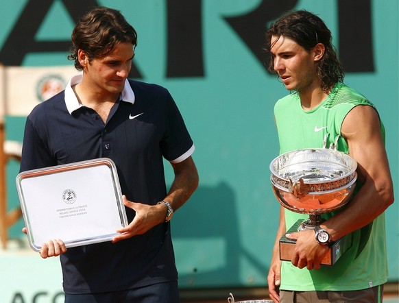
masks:
[[(128, 199), (156, 204), (167, 195), (163, 158), (185, 160), (193, 141), (168, 90), (126, 80), (104, 123), (77, 101), (71, 86), (27, 117), (20, 171), (111, 158)], [(99, 189), (101, 190), (101, 189)], [(95, 204), (95, 201), (93, 201)], [(128, 220), (134, 211), (126, 208)], [(170, 223), (118, 243), (71, 247), (60, 256), (66, 293), (97, 293), (177, 280)]]

